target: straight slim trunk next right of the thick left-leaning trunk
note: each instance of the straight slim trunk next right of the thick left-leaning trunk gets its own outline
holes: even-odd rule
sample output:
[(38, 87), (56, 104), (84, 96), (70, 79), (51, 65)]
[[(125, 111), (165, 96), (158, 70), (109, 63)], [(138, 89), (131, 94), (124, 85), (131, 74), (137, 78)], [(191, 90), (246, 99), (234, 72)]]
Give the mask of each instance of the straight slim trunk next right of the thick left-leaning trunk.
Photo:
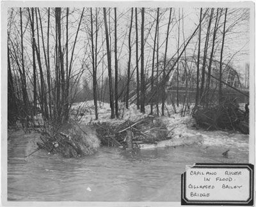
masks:
[(118, 59), (117, 59), (117, 19), (115, 8), (115, 114), (118, 118)]

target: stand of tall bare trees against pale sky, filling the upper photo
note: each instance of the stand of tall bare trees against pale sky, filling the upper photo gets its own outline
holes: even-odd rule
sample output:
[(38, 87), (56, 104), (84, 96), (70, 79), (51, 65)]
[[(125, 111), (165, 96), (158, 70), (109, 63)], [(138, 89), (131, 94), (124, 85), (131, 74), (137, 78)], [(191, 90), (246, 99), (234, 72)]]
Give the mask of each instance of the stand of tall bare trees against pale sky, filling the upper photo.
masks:
[[(248, 22), (248, 13), (248, 9), (201, 8), (184, 23), (186, 15), (180, 8), (10, 8), (8, 121), (21, 119), (26, 126), (40, 107), (45, 121), (65, 123), (71, 104), (81, 100), (77, 99), (81, 88), (94, 100), (95, 119), (107, 88), (111, 118), (119, 116), (118, 100), (129, 108), (133, 93), (141, 112), (160, 94), (157, 102), (150, 102), (151, 113), (155, 105), (159, 114), (160, 102), (164, 115), (170, 73), (179, 74), (179, 59), (196, 51), (196, 105), (209, 96), (211, 59), (217, 56), (221, 97), (225, 70), (221, 63), (244, 52), (244, 45), (234, 52), (228, 43), (241, 36), (237, 27)], [(248, 28), (244, 30), (248, 35)]]

